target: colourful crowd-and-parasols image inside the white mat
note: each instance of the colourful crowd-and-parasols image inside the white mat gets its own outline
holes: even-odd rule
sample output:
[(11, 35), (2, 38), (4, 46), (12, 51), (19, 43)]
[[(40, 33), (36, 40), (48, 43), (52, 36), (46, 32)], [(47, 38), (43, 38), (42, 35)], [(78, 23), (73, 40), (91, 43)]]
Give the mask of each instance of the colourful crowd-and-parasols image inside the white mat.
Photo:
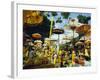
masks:
[(23, 69), (91, 66), (91, 13), (23, 9)]

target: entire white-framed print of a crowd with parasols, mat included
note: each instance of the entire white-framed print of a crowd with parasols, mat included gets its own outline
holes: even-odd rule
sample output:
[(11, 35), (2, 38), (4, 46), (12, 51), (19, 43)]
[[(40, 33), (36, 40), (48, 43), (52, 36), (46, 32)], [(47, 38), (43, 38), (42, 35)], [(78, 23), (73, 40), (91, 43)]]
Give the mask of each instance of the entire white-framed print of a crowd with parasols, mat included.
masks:
[(12, 3), (12, 77), (96, 72), (96, 9)]

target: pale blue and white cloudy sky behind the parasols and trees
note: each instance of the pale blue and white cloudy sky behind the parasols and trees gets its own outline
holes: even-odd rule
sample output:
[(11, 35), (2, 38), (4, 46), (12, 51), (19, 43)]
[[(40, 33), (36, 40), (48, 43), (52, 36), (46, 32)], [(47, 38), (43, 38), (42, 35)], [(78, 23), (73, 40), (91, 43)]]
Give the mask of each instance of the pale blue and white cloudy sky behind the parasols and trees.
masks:
[[(56, 28), (64, 28), (65, 25), (68, 25), (68, 19), (63, 19), (63, 17), (61, 16), (60, 14), (61, 12), (57, 12), (57, 16), (53, 17), (54, 18), (54, 21), (56, 21), (58, 19), (58, 17), (61, 17), (61, 20), (62, 20), (62, 23), (55, 23), (55, 27)], [(83, 15), (83, 16), (91, 16), (90, 13), (79, 13), (79, 12), (71, 12), (69, 17), (74, 19), (74, 18), (77, 18), (78, 15)], [(48, 17), (48, 19), (51, 19), (51, 16)], [(89, 24), (91, 23), (91, 21), (89, 21)], [(64, 30), (64, 34), (61, 34), (60, 35), (60, 41), (65, 37), (72, 37), (73, 36), (73, 31), (72, 30)], [(74, 37), (77, 37), (78, 36), (78, 33), (74, 33)], [(51, 36), (53, 39), (57, 39), (58, 38), (58, 35), (56, 34), (53, 34)]]

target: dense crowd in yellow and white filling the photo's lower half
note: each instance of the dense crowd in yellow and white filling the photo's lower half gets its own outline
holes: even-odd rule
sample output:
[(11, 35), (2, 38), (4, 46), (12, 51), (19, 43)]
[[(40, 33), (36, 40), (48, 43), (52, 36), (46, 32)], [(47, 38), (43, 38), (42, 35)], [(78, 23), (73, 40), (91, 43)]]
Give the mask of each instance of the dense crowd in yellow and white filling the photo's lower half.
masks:
[[(59, 44), (63, 45), (63, 44)], [(72, 47), (72, 46), (73, 47)], [(34, 40), (26, 39), (23, 46), (23, 65), (41, 66), (52, 65), (54, 67), (79, 67), (91, 65), (90, 40), (78, 41), (66, 47), (57, 49), (57, 41), (45, 39)], [(48, 66), (49, 67), (49, 66)], [(40, 67), (41, 68), (41, 67)]]

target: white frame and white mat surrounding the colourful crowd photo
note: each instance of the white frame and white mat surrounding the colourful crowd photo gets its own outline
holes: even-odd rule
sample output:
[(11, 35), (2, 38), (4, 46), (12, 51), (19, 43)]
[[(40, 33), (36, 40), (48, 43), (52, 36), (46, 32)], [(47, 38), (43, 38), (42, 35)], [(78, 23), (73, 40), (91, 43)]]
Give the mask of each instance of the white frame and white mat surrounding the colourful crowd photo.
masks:
[[(42, 5), (23, 2), (12, 2), (12, 54), (11, 54), (11, 76), (17, 77), (45, 77), (67, 74), (95, 73), (97, 69), (95, 53), (95, 27), (96, 27), (96, 8), (76, 7), (76, 6), (59, 6), (59, 5)], [(24, 11), (43, 11), (43, 12), (69, 12), (90, 14), (91, 21), (91, 65), (81, 67), (59, 67), (59, 68), (23, 68), (23, 25)], [(59, 16), (58, 16), (59, 17)], [(50, 19), (51, 20), (51, 19)], [(27, 23), (27, 22), (26, 22)], [(31, 23), (31, 22), (29, 22)], [(37, 23), (37, 22), (36, 22)], [(41, 25), (41, 24), (40, 24)], [(49, 24), (50, 25), (50, 24)], [(58, 24), (59, 25), (59, 24)], [(31, 26), (31, 25), (30, 25)], [(27, 29), (25, 29), (27, 31)], [(50, 30), (50, 29), (49, 29)], [(39, 30), (40, 31), (40, 30)], [(48, 74), (47, 74), (48, 73)]]

